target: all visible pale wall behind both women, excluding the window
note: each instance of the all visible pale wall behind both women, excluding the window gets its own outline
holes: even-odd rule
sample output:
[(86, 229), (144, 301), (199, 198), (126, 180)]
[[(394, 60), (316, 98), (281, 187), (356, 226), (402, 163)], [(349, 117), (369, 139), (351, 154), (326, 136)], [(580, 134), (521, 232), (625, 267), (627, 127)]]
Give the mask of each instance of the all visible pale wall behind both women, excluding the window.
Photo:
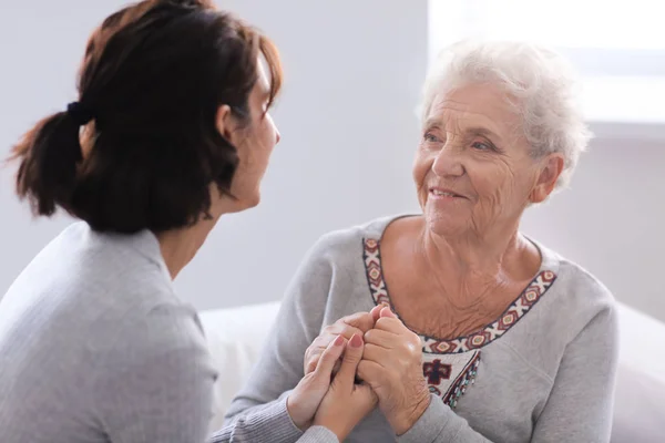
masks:
[[(0, 156), (29, 125), (73, 99), (88, 33), (122, 0), (0, 6)], [(413, 107), (427, 62), (427, 1), (219, 2), (279, 45), (283, 134), (264, 200), (224, 217), (178, 277), (198, 308), (278, 299), (325, 231), (416, 209)], [(531, 209), (524, 230), (597, 275), (617, 298), (665, 320), (665, 131), (596, 140), (573, 189)], [(69, 220), (31, 220), (0, 171), (0, 295)]]

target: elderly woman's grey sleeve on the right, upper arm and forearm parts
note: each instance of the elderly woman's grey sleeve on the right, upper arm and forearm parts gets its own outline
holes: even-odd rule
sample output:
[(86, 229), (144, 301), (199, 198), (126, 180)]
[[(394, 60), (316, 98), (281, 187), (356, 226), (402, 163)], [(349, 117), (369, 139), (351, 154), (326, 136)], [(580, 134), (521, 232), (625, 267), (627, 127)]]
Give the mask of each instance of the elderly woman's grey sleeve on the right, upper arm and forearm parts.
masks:
[[(552, 392), (534, 424), (532, 443), (610, 442), (617, 342), (616, 313), (607, 307), (566, 347)], [(491, 443), (436, 395), (398, 441)]]

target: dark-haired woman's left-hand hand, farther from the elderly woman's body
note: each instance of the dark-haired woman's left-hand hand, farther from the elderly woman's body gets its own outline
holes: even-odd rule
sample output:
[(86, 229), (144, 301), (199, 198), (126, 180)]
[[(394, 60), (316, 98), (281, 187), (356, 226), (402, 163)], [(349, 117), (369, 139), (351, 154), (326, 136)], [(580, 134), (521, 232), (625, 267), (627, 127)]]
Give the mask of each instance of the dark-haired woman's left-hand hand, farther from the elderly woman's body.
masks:
[(342, 336), (334, 338), (320, 354), (313, 372), (306, 374), (286, 399), (286, 409), (294, 424), (306, 430), (330, 388), (332, 368), (342, 356), (347, 340)]

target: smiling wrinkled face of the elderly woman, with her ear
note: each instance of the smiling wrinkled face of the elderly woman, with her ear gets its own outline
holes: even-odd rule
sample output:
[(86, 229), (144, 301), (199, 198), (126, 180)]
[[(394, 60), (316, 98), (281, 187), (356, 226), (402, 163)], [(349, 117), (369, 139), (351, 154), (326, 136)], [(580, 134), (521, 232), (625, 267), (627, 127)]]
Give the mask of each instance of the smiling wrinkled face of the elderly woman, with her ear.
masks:
[(489, 229), (514, 229), (526, 205), (552, 190), (559, 173), (531, 157), (520, 119), (505, 99), (490, 84), (434, 96), (413, 178), (437, 234), (484, 237)]

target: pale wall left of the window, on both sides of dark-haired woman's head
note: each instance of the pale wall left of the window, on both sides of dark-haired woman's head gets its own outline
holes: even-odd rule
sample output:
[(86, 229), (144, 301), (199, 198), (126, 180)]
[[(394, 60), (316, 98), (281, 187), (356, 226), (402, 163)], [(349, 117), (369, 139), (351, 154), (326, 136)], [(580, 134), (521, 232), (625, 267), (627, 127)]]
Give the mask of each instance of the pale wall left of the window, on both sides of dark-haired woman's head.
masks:
[[(73, 99), (88, 33), (125, 2), (8, 3), (0, 3), (1, 156), (35, 119)], [(176, 280), (200, 308), (278, 299), (321, 234), (405, 209), (427, 60), (426, 0), (218, 3), (276, 41), (286, 87), (262, 204), (223, 217)], [(68, 223), (32, 222), (12, 195), (11, 172), (0, 173), (0, 293)]]

